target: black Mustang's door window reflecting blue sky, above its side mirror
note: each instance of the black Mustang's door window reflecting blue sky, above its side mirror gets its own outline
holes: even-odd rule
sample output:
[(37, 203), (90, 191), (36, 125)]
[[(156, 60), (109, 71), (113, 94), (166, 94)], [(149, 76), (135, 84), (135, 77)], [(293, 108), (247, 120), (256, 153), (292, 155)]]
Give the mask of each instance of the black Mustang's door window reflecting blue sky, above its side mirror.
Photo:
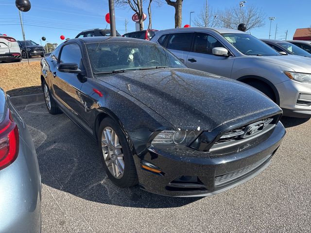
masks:
[(76, 63), (81, 70), (84, 70), (80, 47), (76, 44), (65, 45), (60, 54), (60, 63)]

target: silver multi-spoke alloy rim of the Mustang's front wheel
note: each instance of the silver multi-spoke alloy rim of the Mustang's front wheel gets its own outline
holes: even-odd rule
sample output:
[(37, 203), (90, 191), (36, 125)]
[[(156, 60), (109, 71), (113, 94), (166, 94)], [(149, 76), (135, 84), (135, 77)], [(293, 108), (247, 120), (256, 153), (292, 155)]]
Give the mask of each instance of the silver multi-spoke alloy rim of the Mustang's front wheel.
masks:
[(116, 179), (121, 179), (124, 174), (124, 159), (122, 147), (116, 132), (105, 127), (102, 133), (102, 150), (104, 161), (110, 173)]

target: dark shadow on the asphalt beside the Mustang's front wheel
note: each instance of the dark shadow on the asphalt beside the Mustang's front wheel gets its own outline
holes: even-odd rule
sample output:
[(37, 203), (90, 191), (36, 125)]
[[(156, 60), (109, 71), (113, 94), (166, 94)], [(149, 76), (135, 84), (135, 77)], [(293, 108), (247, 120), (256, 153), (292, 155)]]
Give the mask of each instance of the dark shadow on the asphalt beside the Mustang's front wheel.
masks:
[(24, 110), (21, 114), (35, 143), (42, 183), (85, 200), (126, 207), (172, 208), (200, 199), (116, 186), (105, 174), (96, 142), (67, 116), (48, 114), (44, 104)]

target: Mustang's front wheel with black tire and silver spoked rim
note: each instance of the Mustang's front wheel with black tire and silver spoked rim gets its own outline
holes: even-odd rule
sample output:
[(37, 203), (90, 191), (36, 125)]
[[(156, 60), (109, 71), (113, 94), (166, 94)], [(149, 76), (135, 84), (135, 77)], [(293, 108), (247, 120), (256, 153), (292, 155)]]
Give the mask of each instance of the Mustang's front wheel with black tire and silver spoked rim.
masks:
[(133, 153), (120, 126), (106, 117), (98, 130), (101, 159), (109, 179), (119, 187), (131, 187), (138, 183)]

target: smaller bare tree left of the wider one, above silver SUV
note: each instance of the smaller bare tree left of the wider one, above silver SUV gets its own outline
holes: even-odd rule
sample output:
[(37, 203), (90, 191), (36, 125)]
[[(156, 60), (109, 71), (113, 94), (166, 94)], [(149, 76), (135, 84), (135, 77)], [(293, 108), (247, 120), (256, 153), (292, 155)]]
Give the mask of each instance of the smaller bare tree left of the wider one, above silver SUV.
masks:
[(219, 27), (220, 22), (217, 15), (218, 13), (211, 7), (205, 6), (205, 8), (200, 11), (199, 15), (194, 18), (194, 25), (197, 27)]

